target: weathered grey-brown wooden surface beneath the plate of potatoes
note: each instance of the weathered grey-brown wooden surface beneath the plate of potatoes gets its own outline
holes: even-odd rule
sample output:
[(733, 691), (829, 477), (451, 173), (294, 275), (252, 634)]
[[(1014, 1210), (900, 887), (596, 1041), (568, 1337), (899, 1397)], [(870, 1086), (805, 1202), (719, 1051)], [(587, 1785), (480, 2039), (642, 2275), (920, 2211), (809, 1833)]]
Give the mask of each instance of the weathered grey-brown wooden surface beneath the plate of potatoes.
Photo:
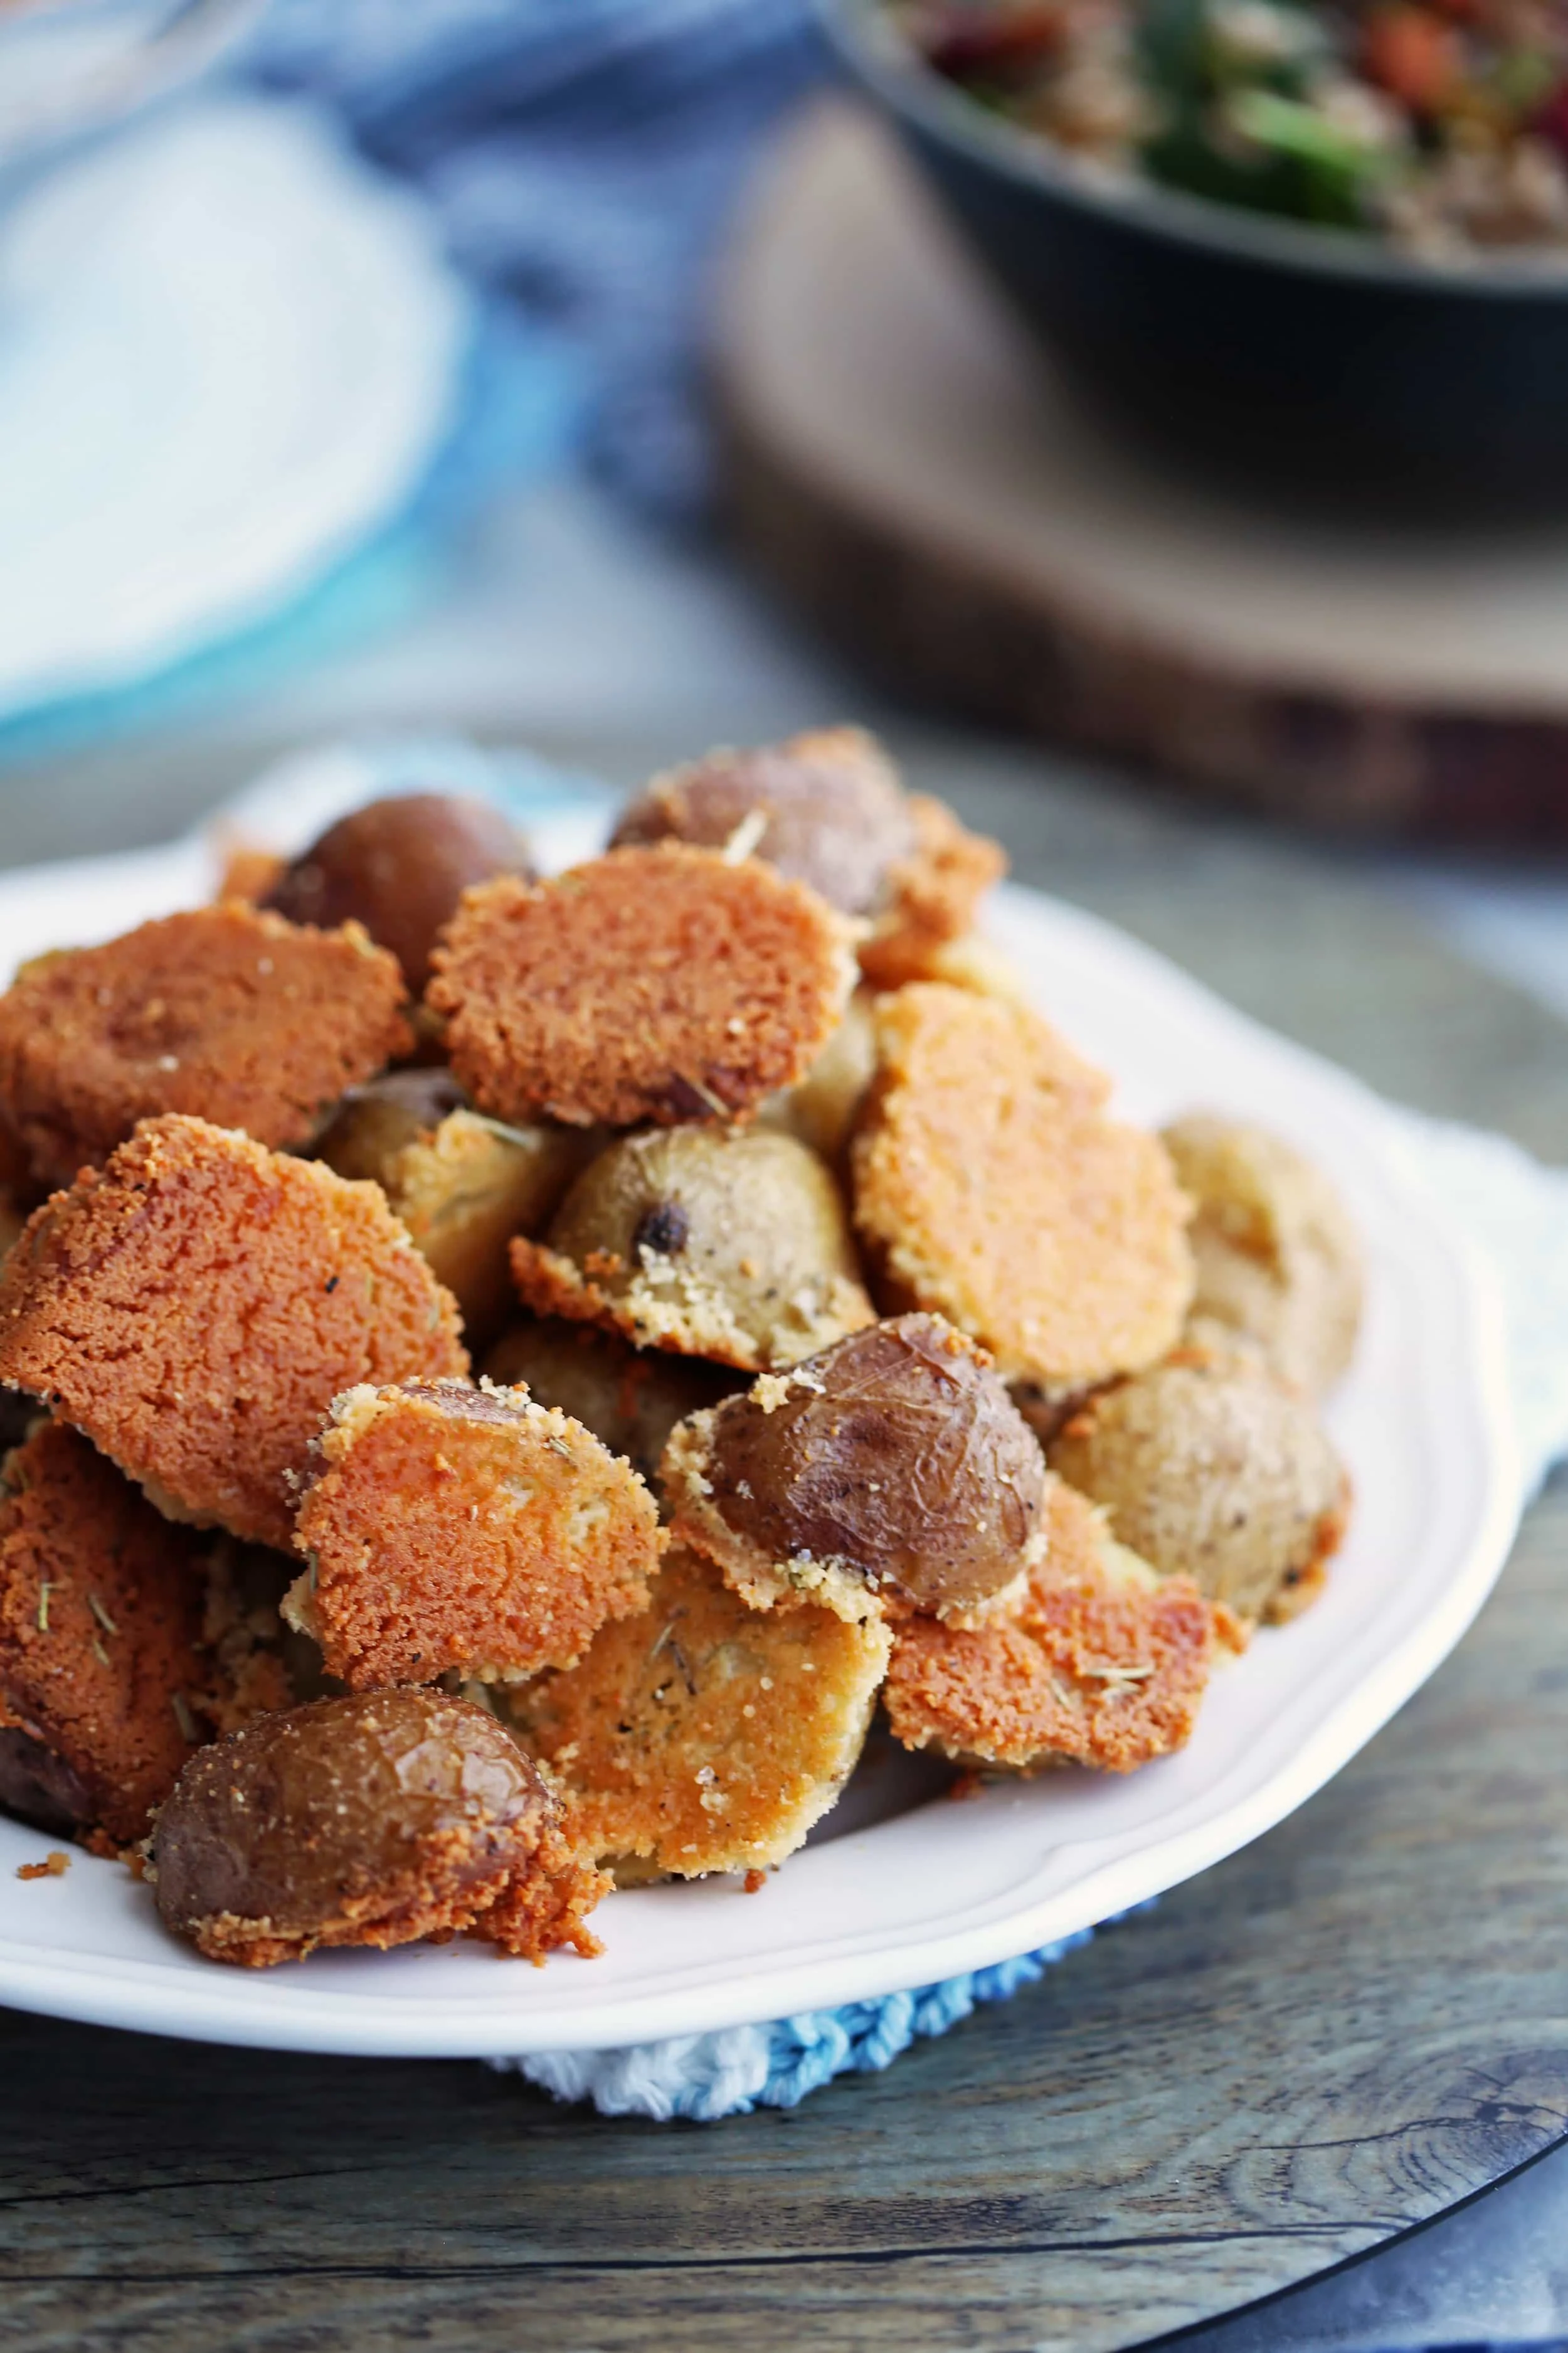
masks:
[[(675, 751), (567, 748), (628, 776)], [(1568, 1158), (1568, 1031), (1354, 868), (1039, 760), (912, 751), (1025, 880), (1392, 1094)], [(0, 842), (66, 847), (40, 824), (0, 800)], [(1568, 2134), (1566, 1551), (1568, 1492), (1312, 1805), (795, 2113), (604, 2122), (473, 2064), (2, 2014), (0, 2344), (1088, 2353), (1380, 2245)]]

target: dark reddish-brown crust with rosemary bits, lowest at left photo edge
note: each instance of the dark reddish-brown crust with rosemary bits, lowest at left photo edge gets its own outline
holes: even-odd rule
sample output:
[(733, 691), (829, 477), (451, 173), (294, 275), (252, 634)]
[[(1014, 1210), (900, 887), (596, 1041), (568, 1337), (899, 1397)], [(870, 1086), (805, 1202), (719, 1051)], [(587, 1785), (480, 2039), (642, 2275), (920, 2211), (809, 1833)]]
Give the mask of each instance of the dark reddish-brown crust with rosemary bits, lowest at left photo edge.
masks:
[(75, 1777), (82, 1826), (125, 1845), (190, 1753), (205, 1704), (202, 1539), (85, 1438), (42, 1421), (0, 1489), (0, 1725)]

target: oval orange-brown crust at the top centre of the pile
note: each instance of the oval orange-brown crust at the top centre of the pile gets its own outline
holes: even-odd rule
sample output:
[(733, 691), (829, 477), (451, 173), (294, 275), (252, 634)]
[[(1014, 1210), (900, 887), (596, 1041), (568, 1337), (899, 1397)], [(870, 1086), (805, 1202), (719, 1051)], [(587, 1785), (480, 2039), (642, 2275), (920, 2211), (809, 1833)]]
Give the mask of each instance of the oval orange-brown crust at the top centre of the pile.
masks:
[(811, 1066), (851, 976), (816, 892), (682, 842), (470, 889), (435, 967), (480, 1108), (571, 1127), (750, 1118)]

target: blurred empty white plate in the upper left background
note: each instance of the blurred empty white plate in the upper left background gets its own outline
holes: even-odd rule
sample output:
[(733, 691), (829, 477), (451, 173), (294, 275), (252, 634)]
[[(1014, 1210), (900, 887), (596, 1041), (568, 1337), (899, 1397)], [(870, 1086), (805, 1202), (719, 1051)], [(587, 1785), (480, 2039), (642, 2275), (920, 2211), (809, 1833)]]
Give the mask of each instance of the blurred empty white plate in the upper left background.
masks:
[(0, 311), (7, 720), (292, 609), (411, 499), (473, 334), (409, 193), (240, 92), (28, 188)]

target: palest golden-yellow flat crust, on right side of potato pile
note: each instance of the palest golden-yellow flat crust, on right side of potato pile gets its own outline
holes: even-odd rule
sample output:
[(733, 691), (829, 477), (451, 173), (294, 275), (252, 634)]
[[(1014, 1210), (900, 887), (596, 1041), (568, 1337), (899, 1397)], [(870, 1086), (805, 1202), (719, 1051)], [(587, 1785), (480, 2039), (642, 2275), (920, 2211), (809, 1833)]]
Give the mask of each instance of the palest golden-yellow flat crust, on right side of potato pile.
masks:
[(1187, 1200), (1157, 1136), (1023, 1005), (924, 981), (877, 1007), (853, 1148), (884, 1306), (973, 1334), (1006, 1379), (1088, 1388), (1152, 1365), (1192, 1297)]

